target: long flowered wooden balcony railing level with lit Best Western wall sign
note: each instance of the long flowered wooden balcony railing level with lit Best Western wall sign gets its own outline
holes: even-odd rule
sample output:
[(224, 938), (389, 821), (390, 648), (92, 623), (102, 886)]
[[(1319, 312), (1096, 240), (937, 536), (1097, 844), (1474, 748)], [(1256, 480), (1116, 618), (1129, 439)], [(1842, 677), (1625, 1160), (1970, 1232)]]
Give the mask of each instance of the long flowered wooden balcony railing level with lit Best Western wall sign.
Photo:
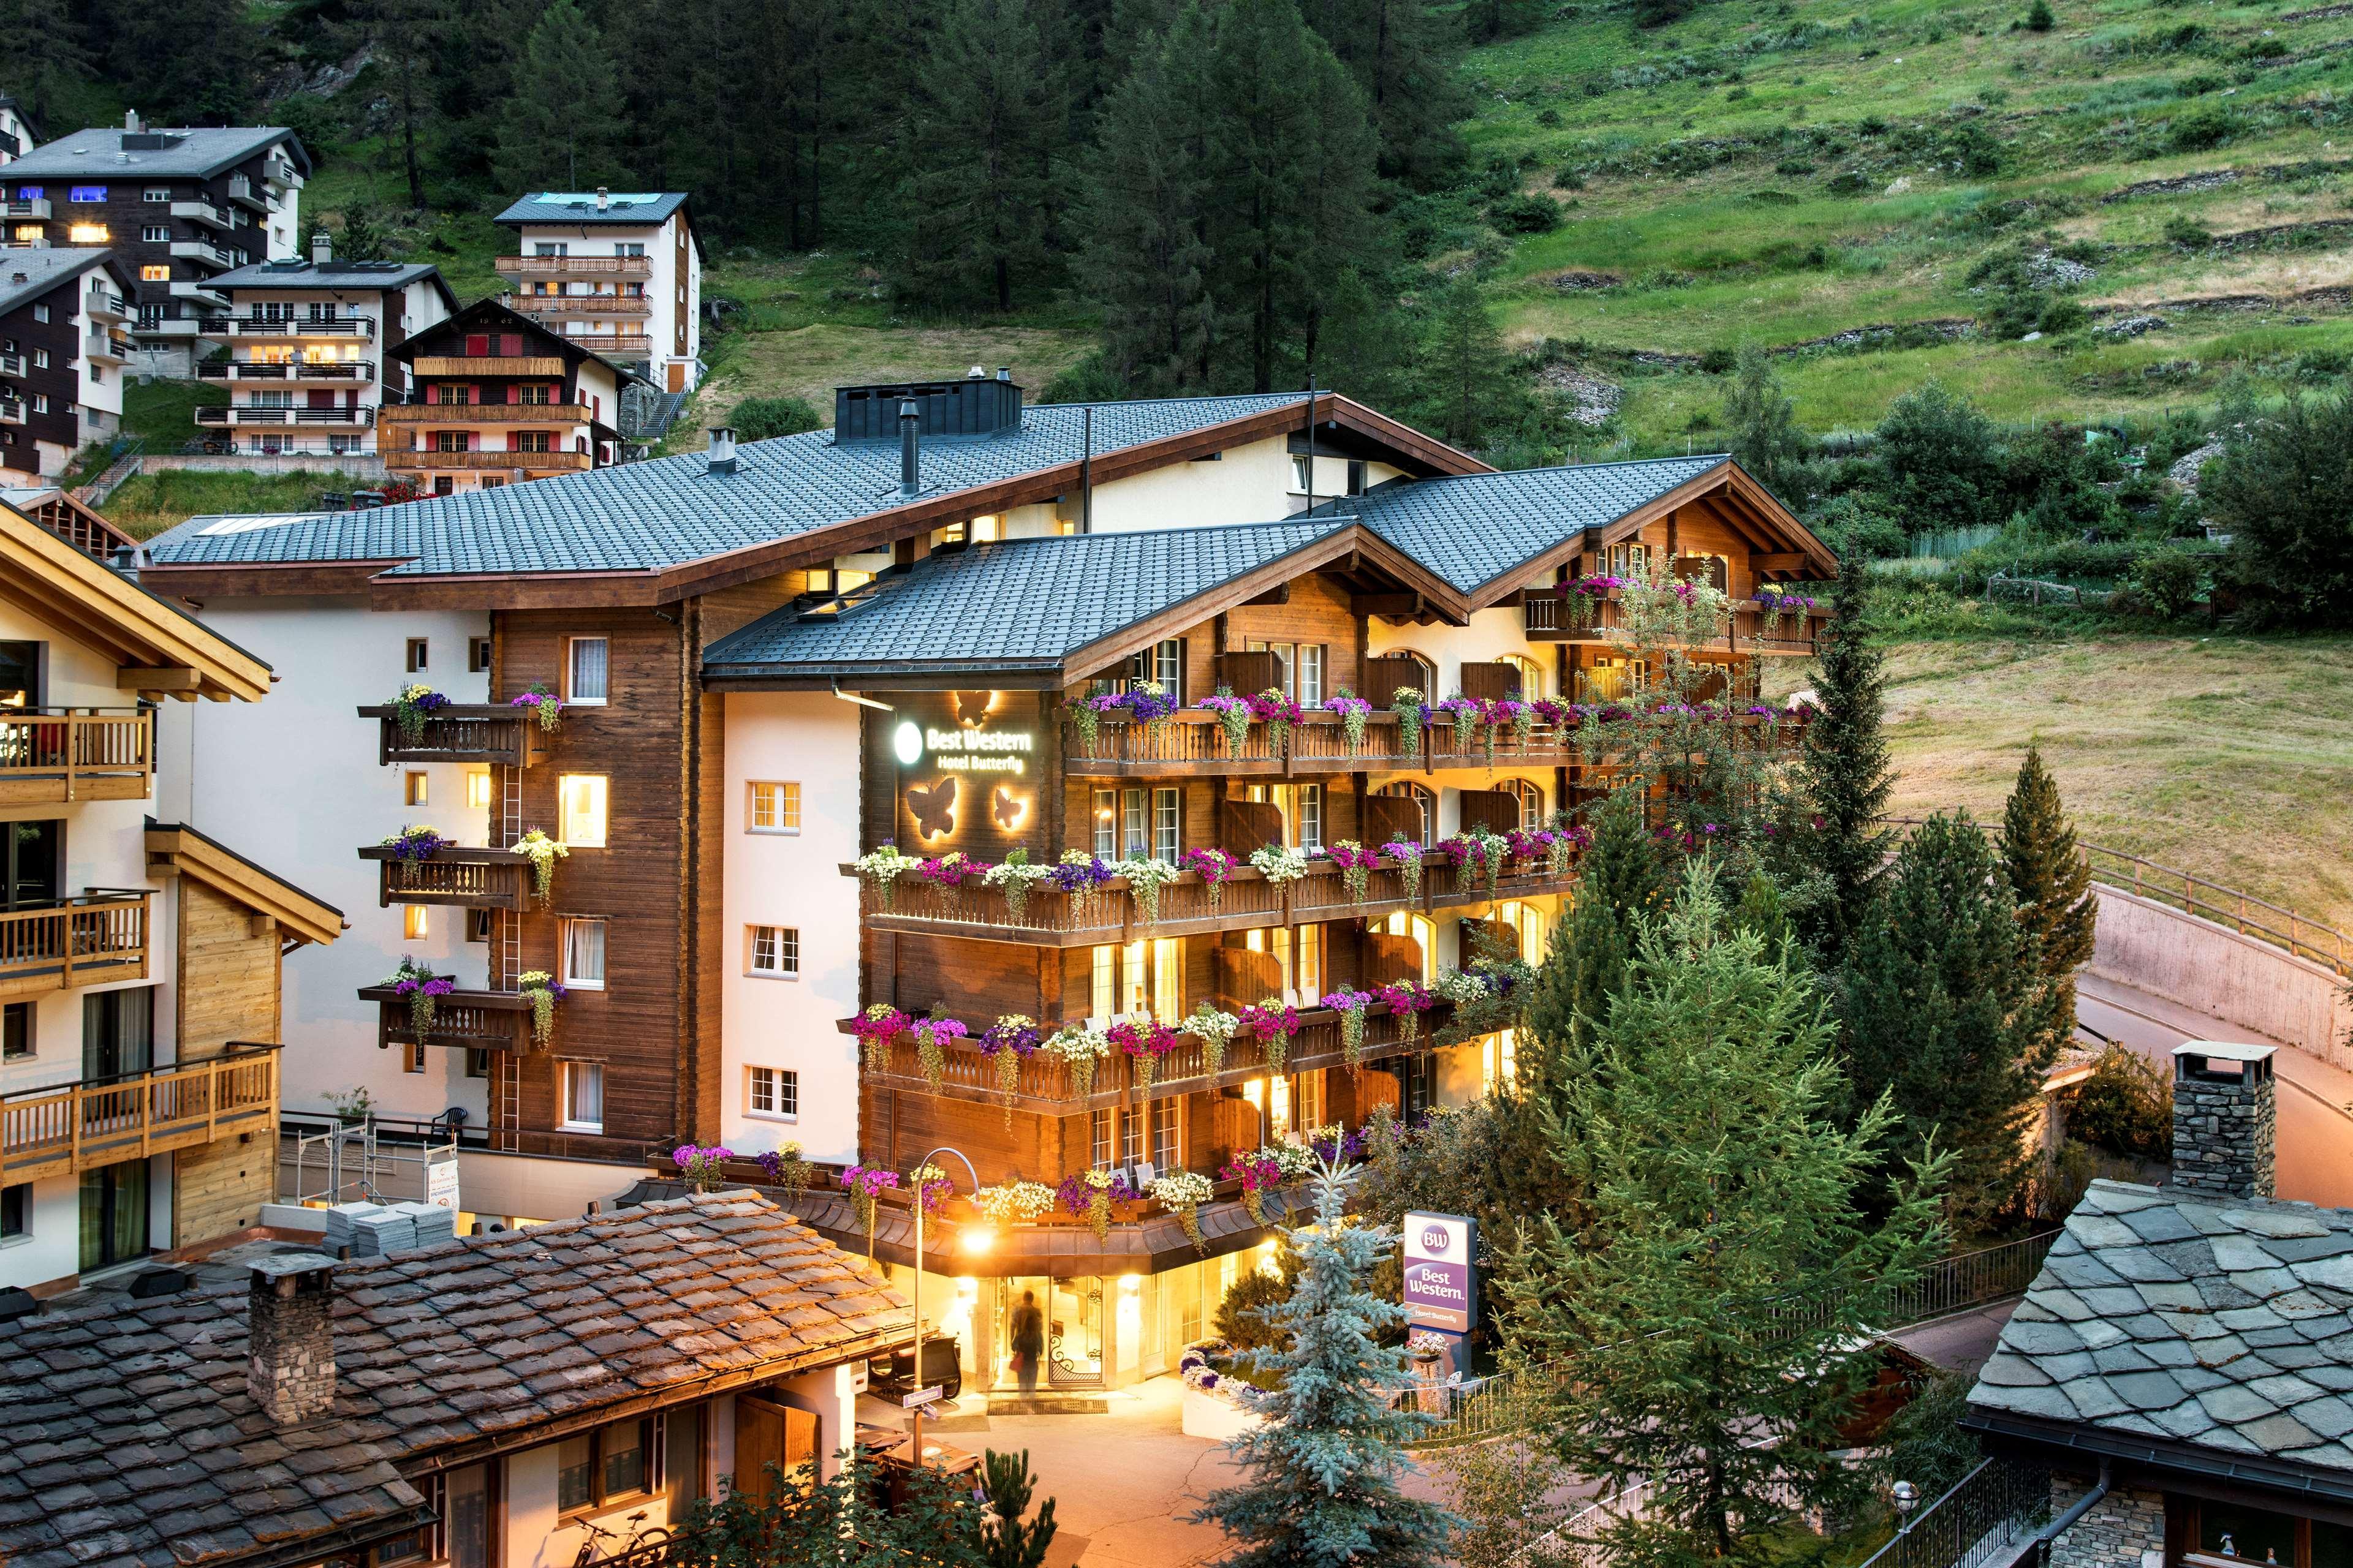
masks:
[[(1713, 710), (1711, 710), (1713, 712)], [(1454, 724), (1442, 715), (1426, 717), (1421, 736), (1412, 750), (1395, 712), (1374, 710), (1365, 715), (1365, 738), (1351, 750), (1348, 731), (1337, 715), (1311, 712), (1304, 724), (1292, 724), (1282, 745), (1275, 745), (1271, 726), (1252, 724), (1240, 748), (1228, 750), (1226, 731), (1217, 715), (1186, 708), (1160, 724), (1129, 724), (1104, 719), (1087, 743), (1075, 724), (1064, 726), (1064, 771), (1078, 778), (1125, 778), (1125, 776), (1184, 776), (1184, 773), (1231, 773), (1231, 776), (1301, 776), (1301, 773), (1351, 773), (1358, 769), (1466, 769), (1466, 766), (1565, 766), (1605, 764), (1612, 757), (1612, 726), (1628, 715), (1621, 708), (1598, 710), (1600, 745), (1586, 752), (1584, 715), (1562, 712), (1560, 724), (1539, 719), (1527, 736), (1511, 729), (1494, 733), (1494, 750), (1487, 750), (1485, 733), (1457, 738)], [(1718, 717), (1734, 731), (1765, 731), (1760, 743), (1786, 743), (1805, 724), (1802, 712), (1765, 715), (1732, 708)]]

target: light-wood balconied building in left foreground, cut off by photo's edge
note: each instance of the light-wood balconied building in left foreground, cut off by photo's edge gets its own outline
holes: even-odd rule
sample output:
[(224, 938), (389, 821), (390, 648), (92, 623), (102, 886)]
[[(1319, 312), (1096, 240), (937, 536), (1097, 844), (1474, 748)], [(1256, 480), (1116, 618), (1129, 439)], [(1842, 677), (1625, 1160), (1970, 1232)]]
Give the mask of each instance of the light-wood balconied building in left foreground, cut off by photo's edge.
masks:
[(0, 1286), (64, 1291), (275, 1199), (280, 957), (341, 914), (193, 827), (186, 745), (160, 741), (160, 715), (268, 689), (0, 505)]

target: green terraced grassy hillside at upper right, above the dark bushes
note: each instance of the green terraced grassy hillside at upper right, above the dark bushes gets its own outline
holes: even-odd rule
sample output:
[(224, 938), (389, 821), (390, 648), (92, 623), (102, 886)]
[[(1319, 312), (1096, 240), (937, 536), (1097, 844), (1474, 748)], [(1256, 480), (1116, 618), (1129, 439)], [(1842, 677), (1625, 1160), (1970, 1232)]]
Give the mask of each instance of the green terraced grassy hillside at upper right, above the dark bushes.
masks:
[[(1722, 388), (1699, 362), (1741, 343), (1788, 355), (1817, 433), (1925, 376), (2024, 421), (2205, 402), (2233, 367), (2341, 374), (2341, 7), (2061, 0), (2047, 33), (2024, 14), (1784, 0), (1645, 33), (1567, 5), (1473, 54), (1473, 148), (1567, 207), (1487, 259), (1511, 339), (1624, 388), (1619, 430), (1652, 447), (1706, 428)], [(2005, 289), (1972, 273), (2002, 259), (2092, 320), (1986, 331)]]

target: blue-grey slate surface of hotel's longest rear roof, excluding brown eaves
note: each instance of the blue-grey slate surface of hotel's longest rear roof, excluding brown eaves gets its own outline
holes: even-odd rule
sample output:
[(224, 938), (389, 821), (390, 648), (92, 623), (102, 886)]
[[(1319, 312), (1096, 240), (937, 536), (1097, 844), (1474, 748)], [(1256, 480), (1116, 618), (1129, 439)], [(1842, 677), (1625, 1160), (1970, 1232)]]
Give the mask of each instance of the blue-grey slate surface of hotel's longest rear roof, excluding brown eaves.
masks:
[[(1186, 435), (1306, 393), (1094, 404), (1094, 451)], [(925, 442), (925, 496), (1075, 463), (1082, 404), (1024, 409), (1021, 428)], [(191, 517), (151, 541), (158, 564), (384, 562), (447, 571), (656, 571), (899, 505), (899, 444), (835, 444), (831, 430), (736, 447), (736, 473), (689, 451), (369, 512)]]

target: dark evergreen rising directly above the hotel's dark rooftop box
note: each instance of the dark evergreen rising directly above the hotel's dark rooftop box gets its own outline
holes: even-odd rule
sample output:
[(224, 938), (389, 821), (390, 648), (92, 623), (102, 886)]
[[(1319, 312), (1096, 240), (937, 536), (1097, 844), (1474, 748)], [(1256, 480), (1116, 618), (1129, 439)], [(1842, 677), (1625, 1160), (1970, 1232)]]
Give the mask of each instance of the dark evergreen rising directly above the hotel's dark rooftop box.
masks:
[(901, 230), (913, 289), (1014, 308), (1052, 261), (1068, 87), (1031, 0), (953, 0), (915, 73)]

